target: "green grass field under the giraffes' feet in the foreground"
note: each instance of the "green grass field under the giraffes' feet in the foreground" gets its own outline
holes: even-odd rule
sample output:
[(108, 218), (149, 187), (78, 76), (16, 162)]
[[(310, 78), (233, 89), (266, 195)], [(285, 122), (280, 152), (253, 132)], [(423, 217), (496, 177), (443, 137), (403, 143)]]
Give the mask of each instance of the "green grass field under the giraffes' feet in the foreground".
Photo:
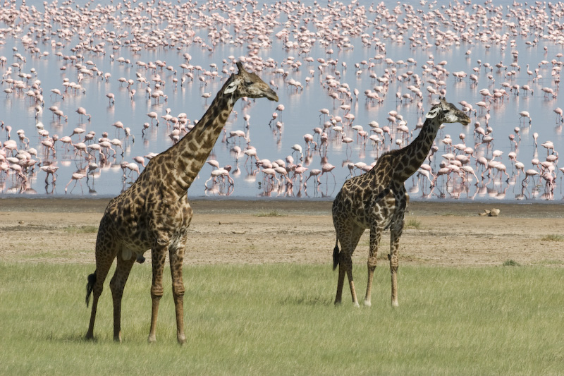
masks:
[[(556, 375), (564, 369), (563, 269), (400, 267), (400, 307), (378, 267), (372, 308), (334, 307), (327, 265), (185, 267), (188, 343), (176, 344), (165, 269), (157, 344), (146, 343), (150, 265), (123, 298), (112, 341), (108, 281), (84, 341), (92, 265), (0, 263), (1, 375)], [(359, 296), (366, 267), (355, 265)]]

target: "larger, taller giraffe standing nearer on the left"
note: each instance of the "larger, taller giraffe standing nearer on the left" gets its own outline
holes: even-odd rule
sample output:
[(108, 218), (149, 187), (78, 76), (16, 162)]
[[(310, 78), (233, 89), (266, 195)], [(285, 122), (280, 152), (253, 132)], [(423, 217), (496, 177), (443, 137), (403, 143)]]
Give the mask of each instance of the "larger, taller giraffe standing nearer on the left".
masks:
[(96, 270), (88, 276), (86, 304), (92, 292), (94, 299), (86, 339), (93, 339), (98, 299), (104, 280), (117, 257), (110, 289), (114, 300), (114, 340), (121, 342), (123, 288), (134, 262), (144, 261), (143, 253), (150, 248), (153, 276), (148, 341), (157, 340), (157, 315), (163, 295), (162, 278), (168, 253), (176, 308), (176, 336), (180, 344), (185, 343), (182, 266), (188, 226), (192, 220), (187, 190), (202, 169), (233, 105), (240, 97), (266, 97), (278, 101), (276, 92), (258, 75), (245, 71), (240, 62), (236, 65), (238, 73), (233, 73), (223, 84), (197, 125), (176, 145), (152, 158), (135, 183), (106, 207), (96, 240)]

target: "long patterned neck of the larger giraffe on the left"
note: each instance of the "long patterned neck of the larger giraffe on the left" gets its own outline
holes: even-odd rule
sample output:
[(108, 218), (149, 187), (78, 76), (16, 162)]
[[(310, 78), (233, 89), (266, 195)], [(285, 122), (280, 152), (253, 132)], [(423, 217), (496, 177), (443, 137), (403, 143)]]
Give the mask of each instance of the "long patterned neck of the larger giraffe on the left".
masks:
[(168, 189), (178, 195), (185, 195), (186, 190), (202, 169), (209, 153), (221, 135), (223, 126), (233, 110), (238, 97), (235, 93), (223, 94), (231, 83), (231, 78), (219, 90), (212, 104), (209, 105), (202, 119), (183, 138), (164, 152), (163, 162), (168, 164)]

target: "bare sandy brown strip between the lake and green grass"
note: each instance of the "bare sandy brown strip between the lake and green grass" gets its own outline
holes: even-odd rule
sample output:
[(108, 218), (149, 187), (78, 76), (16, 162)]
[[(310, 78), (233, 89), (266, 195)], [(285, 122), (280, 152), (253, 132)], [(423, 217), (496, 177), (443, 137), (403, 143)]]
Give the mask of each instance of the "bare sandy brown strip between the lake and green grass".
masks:
[[(1, 262), (94, 266), (97, 226), (108, 199), (0, 199)], [(330, 201), (192, 200), (192, 246), (185, 264), (268, 262), (332, 265)], [(482, 217), (498, 208), (498, 217)], [(274, 215), (275, 214), (275, 215)], [(369, 231), (355, 251), (364, 262)], [(400, 265), (564, 266), (564, 205), (411, 202)], [(389, 236), (379, 257), (387, 265)], [(148, 257), (150, 252), (145, 253)], [(149, 258), (149, 257), (148, 257)]]

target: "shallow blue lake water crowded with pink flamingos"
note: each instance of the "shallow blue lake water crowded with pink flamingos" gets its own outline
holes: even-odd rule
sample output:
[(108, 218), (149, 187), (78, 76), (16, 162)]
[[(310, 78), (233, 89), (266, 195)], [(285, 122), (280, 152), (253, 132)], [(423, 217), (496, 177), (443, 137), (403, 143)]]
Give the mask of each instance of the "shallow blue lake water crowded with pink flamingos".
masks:
[(330, 197), (410, 143), (441, 96), (473, 123), (439, 133), (412, 197), (561, 193), (564, 4), (201, 3), (5, 0), (0, 194), (119, 193), (235, 61), (281, 104), (242, 101), (192, 194)]

